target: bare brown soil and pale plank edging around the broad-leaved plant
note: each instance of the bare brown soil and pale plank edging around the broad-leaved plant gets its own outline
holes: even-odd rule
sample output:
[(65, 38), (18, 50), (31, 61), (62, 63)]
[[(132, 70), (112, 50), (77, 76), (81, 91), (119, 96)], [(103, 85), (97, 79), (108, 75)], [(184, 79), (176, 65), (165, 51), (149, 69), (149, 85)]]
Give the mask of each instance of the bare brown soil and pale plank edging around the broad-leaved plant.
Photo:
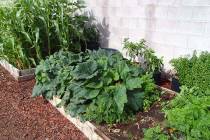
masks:
[(139, 112), (134, 117), (135, 120), (113, 125), (99, 125), (89, 121), (81, 122), (80, 119), (67, 115), (63, 107), (57, 107), (61, 102), (59, 98), (54, 96), (53, 100), (49, 100), (49, 102), (90, 140), (137, 140), (143, 138), (144, 129), (153, 127), (157, 123), (164, 123), (164, 114), (161, 112), (161, 102), (171, 100), (176, 94), (176, 92), (164, 87), (158, 86), (157, 88), (164, 92), (160, 101), (154, 103), (149, 110)]

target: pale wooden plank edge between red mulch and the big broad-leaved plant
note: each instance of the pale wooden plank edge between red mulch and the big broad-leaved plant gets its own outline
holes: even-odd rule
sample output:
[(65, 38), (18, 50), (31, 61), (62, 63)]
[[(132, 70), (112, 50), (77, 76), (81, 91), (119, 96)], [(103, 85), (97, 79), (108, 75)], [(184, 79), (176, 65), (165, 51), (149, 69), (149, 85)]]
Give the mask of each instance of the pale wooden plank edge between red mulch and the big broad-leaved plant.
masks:
[(73, 123), (89, 140), (110, 140), (103, 132), (97, 129), (91, 122), (81, 122), (78, 118), (73, 118), (66, 114), (64, 108), (57, 108), (56, 105), (61, 101), (57, 97), (53, 97), (53, 100), (48, 100), (65, 118)]

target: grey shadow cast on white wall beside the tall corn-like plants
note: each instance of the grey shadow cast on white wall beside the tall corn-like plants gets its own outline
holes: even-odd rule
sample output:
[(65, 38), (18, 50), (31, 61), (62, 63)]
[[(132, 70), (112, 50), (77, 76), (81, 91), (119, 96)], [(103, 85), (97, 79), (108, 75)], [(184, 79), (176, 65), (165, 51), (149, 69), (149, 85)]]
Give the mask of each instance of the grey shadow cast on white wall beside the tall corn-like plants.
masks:
[(90, 17), (90, 22), (91, 22), (90, 24), (94, 24), (99, 31), (100, 47), (108, 48), (110, 31), (109, 31), (109, 24), (107, 23), (106, 18), (104, 17), (102, 21), (95, 19), (96, 16), (94, 15), (92, 10), (86, 12), (86, 14), (88, 14)]

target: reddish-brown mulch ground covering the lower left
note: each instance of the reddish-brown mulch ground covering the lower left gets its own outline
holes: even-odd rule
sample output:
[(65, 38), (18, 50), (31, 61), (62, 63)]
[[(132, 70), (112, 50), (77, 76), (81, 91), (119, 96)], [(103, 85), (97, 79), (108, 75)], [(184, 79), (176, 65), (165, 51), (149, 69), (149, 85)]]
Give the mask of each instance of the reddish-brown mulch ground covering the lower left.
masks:
[(34, 83), (18, 83), (0, 66), (0, 140), (87, 139), (42, 97), (31, 98)]

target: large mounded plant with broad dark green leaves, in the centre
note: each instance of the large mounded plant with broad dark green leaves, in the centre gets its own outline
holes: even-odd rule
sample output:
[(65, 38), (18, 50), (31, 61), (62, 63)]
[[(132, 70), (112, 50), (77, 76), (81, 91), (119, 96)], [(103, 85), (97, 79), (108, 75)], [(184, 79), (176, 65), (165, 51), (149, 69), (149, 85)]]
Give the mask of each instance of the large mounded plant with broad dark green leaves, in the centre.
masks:
[(33, 96), (39, 95), (59, 97), (66, 112), (81, 120), (116, 123), (143, 110), (144, 100), (159, 92), (139, 66), (120, 53), (99, 49), (60, 51), (41, 61), (33, 90)]

